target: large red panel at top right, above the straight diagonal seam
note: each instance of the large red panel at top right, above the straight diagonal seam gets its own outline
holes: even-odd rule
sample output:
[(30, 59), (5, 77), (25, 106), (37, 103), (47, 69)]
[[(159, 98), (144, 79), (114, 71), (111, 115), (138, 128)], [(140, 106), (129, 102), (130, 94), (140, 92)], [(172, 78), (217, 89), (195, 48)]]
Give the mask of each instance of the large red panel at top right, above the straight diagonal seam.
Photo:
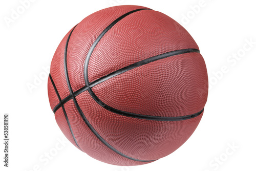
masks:
[(89, 81), (148, 57), (188, 48), (199, 49), (175, 20), (154, 10), (137, 11), (101, 38), (89, 61)]

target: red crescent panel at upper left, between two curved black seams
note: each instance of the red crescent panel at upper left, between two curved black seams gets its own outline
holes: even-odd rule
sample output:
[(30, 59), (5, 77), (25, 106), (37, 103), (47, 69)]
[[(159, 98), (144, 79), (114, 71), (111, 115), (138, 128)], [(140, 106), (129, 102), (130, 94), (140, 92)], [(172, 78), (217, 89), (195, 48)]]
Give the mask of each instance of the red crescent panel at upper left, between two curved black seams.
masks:
[[(73, 91), (77, 91), (85, 86), (83, 78), (84, 60), (93, 42), (100, 33), (121, 15), (141, 8), (145, 7), (119, 6), (106, 8), (89, 15), (76, 26), (70, 37), (67, 57), (69, 79)], [(110, 47), (105, 48), (108, 49)], [(100, 60), (102, 60), (102, 58)], [(100, 62), (100, 60), (98, 60), (98, 62)], [(98, 70), (99, 68), (96, 69)]]

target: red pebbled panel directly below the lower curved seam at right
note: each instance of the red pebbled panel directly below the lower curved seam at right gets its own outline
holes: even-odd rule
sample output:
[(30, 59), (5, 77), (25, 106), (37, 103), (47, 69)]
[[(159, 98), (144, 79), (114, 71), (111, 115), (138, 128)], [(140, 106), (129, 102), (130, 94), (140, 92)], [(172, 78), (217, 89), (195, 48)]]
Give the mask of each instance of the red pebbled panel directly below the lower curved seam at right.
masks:
[(195, 131), (203, 115), (182, 121), (137, 119), (99, 107), (88, 92), (76, 99), (103, 139), (123, 154), (140, 160), (157, 160), (173, 153)]

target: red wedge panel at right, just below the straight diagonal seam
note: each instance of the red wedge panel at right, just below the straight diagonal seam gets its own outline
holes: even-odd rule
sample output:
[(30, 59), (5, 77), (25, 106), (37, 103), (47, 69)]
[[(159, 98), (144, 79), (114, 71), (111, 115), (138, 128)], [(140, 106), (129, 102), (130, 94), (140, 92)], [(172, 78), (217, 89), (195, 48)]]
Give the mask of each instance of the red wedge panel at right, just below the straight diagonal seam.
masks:
[(92, 90), (105, 104), (121, 111), (177, 117), (204, 108), (207, 96), (198, 90), (204, 88), (205, 80), (207, 74), (202, 55), (186, 53), (126, 71)]

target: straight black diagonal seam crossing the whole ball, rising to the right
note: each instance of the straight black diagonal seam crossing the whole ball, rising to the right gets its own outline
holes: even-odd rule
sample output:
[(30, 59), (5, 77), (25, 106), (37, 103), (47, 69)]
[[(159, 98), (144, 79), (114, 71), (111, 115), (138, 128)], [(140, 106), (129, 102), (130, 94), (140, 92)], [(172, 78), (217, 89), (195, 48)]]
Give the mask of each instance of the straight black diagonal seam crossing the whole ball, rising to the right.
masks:
[[(122, 74), (126, 71), (129, 71), (129, 70), (132, 70), (136, 67), (140, 67), (140, 66), (143, 66), (147, 63), (150, 63), (150, 62), (154, 62), (156, 60), (159, 60), (159, 59), (164, 59), (166, 57), (171, 57), (171, 56), (175, 56), (175, 55), (180, 55), (180, 54), (185, 54), (185, 53), (200, 53), (200, 51), (198, 49), (182, 49), (182, 50), (176, 50), (176, 51), (172, 51), (172, 52), (167, 52), (167, 53), (163, 53), (163, 54), (160, 54), (160, 55), (157, 55), (157, 56), (153, 56), (153, 57), (150, 57), (150, 58), (147, 58), (147, 59), (144, 59), (144, 60), (141, 60), (139, 62), (136, 62), (136, 63), (133, 63), (132, 65), (130, 66), (127, 66), (127, 67), (124, 67), (124, 68), (121, 68), (117, 71), (114, 71), (106, 76), (103, 76), (93, 82), (91, 82), (89, 84), (89, 86), (84, 86), (82, 87), (81, 89), (77, 90), (76, 92), (74, 92), (74, 95), (77, 96), (79, 95), (80, 93), (84, 92), (84, 91), (87, 91), (88, 88), (93, 88), (94, 86), (96, 86), (97, 84), (101, 83), (101, 82), (104, 82), (114, 76), (117, 76), (119, 74)], [(69, 95), (67, 96), (66, 98), (64, 98), (61, 102), (64, 104), (66, 102), (68, 102), (69, 100), (72, 99), (72, 96)], [(53, 112), (55, 113), (60, 107), (61, 107), (61, 102), (58, 103), (54, 109), (53, 109)]]

